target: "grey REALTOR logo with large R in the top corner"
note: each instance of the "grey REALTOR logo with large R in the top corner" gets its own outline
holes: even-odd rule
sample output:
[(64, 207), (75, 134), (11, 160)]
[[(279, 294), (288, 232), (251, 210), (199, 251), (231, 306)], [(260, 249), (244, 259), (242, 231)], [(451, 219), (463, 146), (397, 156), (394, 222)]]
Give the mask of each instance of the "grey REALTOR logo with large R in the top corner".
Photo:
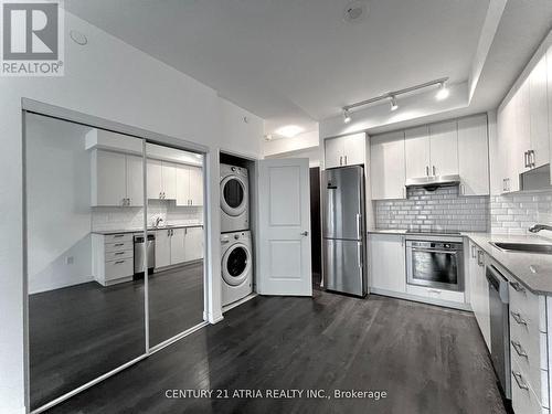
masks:
[(3, 76), (63, 75), (60, 1), (1, 1)]

